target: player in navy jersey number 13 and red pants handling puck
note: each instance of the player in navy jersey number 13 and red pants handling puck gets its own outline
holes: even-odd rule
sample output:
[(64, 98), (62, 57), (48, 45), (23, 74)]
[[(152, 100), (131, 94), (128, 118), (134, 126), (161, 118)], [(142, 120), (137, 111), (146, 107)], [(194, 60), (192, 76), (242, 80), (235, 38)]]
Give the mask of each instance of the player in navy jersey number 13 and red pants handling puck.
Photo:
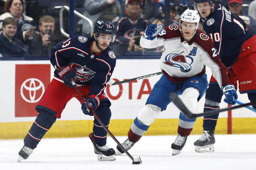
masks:
[[(111, 103), (104, 89), (116, 63), (115, 54), (108, 47), (114, 39), (112, 23), (98, 21), (93, 37), (77, 35), (51, 50), (50, 61), (55, 68), (54, 77), (35, 107), (39, 114), (24, 139), (18, 162), (29, 157), (56, 119), (61, 118), (66, 103), (73, 97), (82, 104), (84, 114), (93, 116), (86, 108), (92, 109), (109, 126)], [(76, 82), (87, 103), (83, 103), (71, 84), (71, 79)], [(106, 146), (107, 132), (95, 118), (93, 133), (89, 137), (98, 160), (115, 160), (115, 150)]]

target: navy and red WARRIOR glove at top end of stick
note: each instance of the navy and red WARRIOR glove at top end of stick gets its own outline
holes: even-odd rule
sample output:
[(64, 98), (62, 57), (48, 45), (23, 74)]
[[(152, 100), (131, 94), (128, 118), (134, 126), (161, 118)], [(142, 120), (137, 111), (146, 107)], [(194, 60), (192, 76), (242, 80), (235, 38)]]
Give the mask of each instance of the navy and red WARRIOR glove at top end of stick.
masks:
[(78, 81), (77, 75), (75, 74), (75, 71), (71, 69), (70, 66), (62, 67), (58, 69), (58, 74), (63, 80), (64, 84), (69, 86), (70, 88), (74, 88), (74, 86), (71, 84), (71, 79), (74, 80), (74, 82)]

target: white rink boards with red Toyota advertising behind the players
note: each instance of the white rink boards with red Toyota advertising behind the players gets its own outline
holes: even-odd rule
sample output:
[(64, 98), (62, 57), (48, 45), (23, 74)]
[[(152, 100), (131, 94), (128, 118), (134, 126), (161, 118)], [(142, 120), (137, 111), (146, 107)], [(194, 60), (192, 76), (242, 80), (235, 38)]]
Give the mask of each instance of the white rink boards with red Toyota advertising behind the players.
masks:
[[(112, 79), (122, 81), (143, 75), (157, 73), (160, 70), (157, 59), (118, 59)], [(0, 67), (0, 122), (34, 121), (39, 114), (35, 106), (43, 92), (53, 79), (54, 67), (50, 61), (1, 61)], [(206, 70), (208, 75), (211, 71)], [(134, 119), (145, 105), (154, 84), (161, 75), (135, 80), (129, 83), (107, 86), (105, 94), (111, 101), (111, 119)], [(210, 78), (210, 76), (208, 76)], [(4, 97), (3, 97), (4, 96)], [(61, 99), (59, 99), (61, 100)], [(204, 96), (198, 103), (198, 112), (203, 111)], [(248, 102), (247, 95), (240, 95), (239, 100)], [(221, 107), (226, 107), (221, 103)], [(255, 117), (249, 109), (232, 112), (233, 117)], [(172, 103), (158, 118), (178, 118), (179, 110)], [(220, 117), (227, 117), (221, 114)], [(62, 112), (61, 120), (92, 120), (81, 111), (81, 104), (75, 98), (71, 99)]]

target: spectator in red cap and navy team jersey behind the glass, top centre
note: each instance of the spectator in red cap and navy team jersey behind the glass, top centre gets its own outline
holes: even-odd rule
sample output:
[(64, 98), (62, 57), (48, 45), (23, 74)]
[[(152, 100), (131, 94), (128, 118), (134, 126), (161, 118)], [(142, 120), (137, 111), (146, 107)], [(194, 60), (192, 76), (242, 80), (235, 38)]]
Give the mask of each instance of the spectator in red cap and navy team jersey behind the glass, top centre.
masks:
[(115, 42), (111, 44), (111, 49), (117, 56), (126, 55), (125, 52), (133, 55), (132, 52), (141, 52), (143, 50), (139, 45), (139, 40), (149, 22), (140, 15), (139, 2), (139, 0), (126, 0), (125, 14), (112, 20), (116, 38)]

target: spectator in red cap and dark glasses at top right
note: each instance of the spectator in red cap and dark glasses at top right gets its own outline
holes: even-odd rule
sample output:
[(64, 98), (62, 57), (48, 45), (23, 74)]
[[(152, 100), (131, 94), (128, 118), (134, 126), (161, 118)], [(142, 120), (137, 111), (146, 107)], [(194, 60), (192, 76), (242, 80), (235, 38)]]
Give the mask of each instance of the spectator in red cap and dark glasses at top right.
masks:
[(247, 15), (243, 10), (242, 0), (229, 0), (229, 10), (232, 14), (237, 16), (247, 16), (250, 18), (249, 31), (255, 35), (256, 34), (256, 21), (253, 17)]

